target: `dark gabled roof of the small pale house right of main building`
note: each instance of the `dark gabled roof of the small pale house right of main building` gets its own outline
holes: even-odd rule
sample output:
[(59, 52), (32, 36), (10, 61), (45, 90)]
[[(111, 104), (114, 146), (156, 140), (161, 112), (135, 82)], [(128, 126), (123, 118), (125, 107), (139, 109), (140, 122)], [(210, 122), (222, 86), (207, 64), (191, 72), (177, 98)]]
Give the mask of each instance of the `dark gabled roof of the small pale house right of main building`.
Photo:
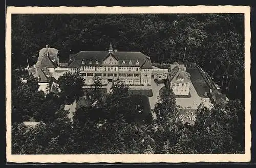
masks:
[[(190, 83), (190, 79), (186, 73), (177, 65), (167, 75), (169, 83)], [(183, 80), (178, 80), (183, 79)]]

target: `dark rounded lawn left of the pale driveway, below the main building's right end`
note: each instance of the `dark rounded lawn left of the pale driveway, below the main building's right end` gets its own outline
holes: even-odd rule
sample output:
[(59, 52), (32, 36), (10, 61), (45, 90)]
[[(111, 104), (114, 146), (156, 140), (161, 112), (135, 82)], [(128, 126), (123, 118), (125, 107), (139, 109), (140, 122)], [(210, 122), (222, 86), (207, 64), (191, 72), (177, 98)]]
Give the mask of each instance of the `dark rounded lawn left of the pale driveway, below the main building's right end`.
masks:
[(143, 124), (144, 122), (150, 121), (152, 119), (150, 101), (148, 100), (146, 95), (133, 94), (131, 95), (131, 101), (135, 107), (140, 105), (143, 109), (140, 113), (137, 112), (136, 116), (134, 116), (136, 123)]

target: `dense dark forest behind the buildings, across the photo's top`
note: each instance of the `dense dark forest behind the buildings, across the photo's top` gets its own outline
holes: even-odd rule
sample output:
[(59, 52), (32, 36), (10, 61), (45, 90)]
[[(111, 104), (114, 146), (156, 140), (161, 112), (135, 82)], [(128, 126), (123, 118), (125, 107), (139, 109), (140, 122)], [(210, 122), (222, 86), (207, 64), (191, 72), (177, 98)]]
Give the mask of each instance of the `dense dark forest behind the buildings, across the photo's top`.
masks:
[(13, 68), (33, 65), (46, 44), (67, 60), (110, 42), (153, 63), (199, 64), (229, 99), (244, 102), (243, 14), (12, 14)]

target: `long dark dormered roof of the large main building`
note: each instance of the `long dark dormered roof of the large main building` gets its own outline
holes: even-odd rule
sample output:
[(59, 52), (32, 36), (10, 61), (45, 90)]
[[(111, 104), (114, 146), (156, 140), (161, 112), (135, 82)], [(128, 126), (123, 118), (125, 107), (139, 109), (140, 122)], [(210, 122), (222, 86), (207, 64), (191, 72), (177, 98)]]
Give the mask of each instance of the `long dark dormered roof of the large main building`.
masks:
[[(101, 66), (102, 62), (109, 56), (113, 56), (119, 62), (119, 66), (139, 66), (145, 65), (143, 68), (152, 68), (150, 58), (140, 52), (97, 52), (97, 51), (81, 51), (77, 53), (73, 60), (70, 61), (70, 68), (78, 68), (80, 66)], [(71, 56), (70, 56), (71, 57)], [(84, 64), (82, 64), (84, 61)], [(90, 64), (90, 61), (92, 64)], [(98, 64), (96, 63), (98, 61)], [(124, 64), (123, 64), (124, 61)], [(129, 64), (129, 62), (132, 64)], [(139, 62), (137, 65), (136, 62)], [(147, 63), (146, 63), (147, 62)]]

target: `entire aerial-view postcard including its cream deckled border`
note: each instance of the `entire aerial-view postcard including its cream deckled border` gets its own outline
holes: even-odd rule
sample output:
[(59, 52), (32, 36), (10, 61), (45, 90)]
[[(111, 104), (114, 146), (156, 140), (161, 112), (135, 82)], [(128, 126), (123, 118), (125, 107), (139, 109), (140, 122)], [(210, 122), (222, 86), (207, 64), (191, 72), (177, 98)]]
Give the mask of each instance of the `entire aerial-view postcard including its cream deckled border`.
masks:
[(7, 18), (10, 158), (250, 158), (250, 8), (25, 8)]

